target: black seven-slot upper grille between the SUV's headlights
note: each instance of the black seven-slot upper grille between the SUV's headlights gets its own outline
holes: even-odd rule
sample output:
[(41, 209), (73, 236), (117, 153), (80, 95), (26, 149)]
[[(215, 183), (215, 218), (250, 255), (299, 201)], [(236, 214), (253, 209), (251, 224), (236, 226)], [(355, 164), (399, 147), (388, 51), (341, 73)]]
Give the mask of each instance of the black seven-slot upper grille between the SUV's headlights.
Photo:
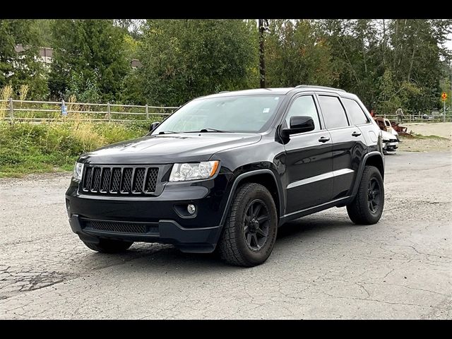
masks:
[(150, 194), (158, 167), (85, 166), (82, 189), (88, 194)]

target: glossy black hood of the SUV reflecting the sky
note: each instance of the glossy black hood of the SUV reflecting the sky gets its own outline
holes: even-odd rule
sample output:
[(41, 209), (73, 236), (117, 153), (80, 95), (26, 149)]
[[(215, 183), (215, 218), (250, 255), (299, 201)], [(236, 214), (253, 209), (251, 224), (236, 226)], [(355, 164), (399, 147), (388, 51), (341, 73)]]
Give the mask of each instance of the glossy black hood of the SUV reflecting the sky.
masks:
[(167, 164), (206, 161), (217, 152), (261, 140), (250, 133), (177, 133), (145, 136), (114, 143), (85, 153), (81, 159), (93, 164)]

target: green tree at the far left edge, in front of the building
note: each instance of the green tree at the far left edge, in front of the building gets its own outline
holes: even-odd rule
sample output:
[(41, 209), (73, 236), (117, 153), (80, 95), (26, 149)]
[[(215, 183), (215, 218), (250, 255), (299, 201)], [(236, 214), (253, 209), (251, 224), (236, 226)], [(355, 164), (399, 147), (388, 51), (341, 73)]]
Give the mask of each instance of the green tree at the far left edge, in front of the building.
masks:
[[(0, 20), (0, 88), (11, 85), (18, 93), (28, 85), (28, 97), (39, 100), (47, 95), (47, 79), (40, 62), (40, 40), (31, 27), (34, 20)], [(16, 46), (21, 49), (16, 52)]]

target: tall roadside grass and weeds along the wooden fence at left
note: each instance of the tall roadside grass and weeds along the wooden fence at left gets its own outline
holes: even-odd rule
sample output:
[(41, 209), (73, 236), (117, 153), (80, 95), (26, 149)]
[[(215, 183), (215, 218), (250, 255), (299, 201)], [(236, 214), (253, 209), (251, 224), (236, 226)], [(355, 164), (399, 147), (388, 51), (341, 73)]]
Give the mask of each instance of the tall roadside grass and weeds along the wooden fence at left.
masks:
[(149, 121), (108, 124), (61, 119), (49, 124), (11, 125), (0, 121), (0, 177), (70, 171), (82, 153), (143, 136), (149, 124)]

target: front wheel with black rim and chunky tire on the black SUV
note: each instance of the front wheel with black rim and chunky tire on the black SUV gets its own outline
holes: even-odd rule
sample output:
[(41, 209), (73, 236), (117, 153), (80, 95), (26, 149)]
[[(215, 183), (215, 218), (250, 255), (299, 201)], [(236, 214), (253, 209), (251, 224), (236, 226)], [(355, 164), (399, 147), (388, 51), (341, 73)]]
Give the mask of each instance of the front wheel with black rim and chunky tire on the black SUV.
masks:
[(218, 252), (235, 266), (260, 265), (273, 251), (277, 232), (278, 214), (268, 189), (260, 184), (243, 184), (234, 194)]

